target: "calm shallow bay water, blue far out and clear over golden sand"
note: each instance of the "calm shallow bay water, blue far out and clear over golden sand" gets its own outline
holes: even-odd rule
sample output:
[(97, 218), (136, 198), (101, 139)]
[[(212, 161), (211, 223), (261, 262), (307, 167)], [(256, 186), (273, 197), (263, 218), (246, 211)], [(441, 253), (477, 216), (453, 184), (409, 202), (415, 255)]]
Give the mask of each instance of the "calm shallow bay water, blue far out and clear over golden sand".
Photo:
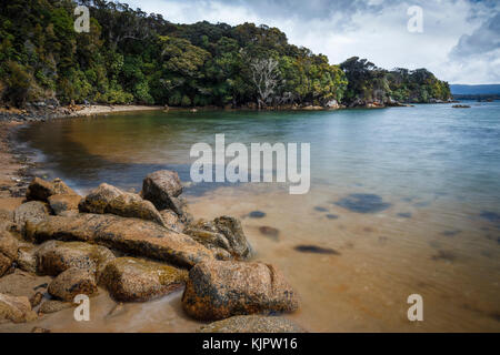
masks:
[[(279, 184), (187, 189), (197, 217), (241, 217), (257, 258), (284, 272), (302, 298), (288, 317), (321, 332), (500, 331), (498, 102), (468, 110), (134, 112), (32, 124), (18, 139), (44, 162), (39, 173), (84, 193), (100, 182), (139, 191), (143, 176), (164, 168), (188, 182), (191, 145), (213, 145), (216, 133), (227, 144), (311, 143), (306, 195)], [(423, 297), (423, 322), (407, 318), (414, 293)], [(178, 303), (128, 305), (106, 322), (102, 312), (86, 328), (196, 329)], [(61, 324), (62, 316), (52, 317)], [(64, 320), (60, 329), (81, 331)]]

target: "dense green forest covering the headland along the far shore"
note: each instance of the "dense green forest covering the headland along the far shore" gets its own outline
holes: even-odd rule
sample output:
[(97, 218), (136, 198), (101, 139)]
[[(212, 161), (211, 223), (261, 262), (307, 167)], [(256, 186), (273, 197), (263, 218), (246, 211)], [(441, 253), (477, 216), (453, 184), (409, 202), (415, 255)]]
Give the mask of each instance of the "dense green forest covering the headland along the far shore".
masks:
[[(73, 29), (77, 4), (90, 8), (88, 33)], [(0, 99), (17, 106), (51, 98), (268, 106), (449, 97), (423, 69), (388, 72), (357, 58), (331, 65), (253, 23), (173, 24), (103, 0), (2, 1), (0, 22)]]

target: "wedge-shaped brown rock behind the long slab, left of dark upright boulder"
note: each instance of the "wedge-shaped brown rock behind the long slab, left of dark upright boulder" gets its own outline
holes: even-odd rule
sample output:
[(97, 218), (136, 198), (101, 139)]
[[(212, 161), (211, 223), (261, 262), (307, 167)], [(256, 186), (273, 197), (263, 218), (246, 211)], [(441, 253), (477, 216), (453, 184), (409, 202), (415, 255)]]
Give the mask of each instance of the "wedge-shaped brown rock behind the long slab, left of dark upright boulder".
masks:
[(79, 205), (80, 212), (87, 213), (111, 213), (123, 217), (134, 217), (153, 221), (164, 225), (158, 210), (149, 201), (130, 192), (123, 192), (118, 187), (101, 184), (91, 191)]

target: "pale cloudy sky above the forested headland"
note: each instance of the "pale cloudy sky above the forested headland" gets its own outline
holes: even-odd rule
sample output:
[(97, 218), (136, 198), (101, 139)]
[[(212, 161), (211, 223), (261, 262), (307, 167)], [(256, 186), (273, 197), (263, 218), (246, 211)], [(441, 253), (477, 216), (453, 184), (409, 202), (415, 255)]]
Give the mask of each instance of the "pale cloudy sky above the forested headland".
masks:
[[(331, 63), (358, 55), (391, 69), (427, 68), (450, 83), (500, 83), (498, 0), (122, 0), (176, 23), (277, 27)], [(413, 7), (413, 8), (412, 8)], [(422, 31), (414, 31), (422, 10)], [(411, 8), (411, 9), (410, 9)], [(409, 30), (408, 23), (412, 31)]]

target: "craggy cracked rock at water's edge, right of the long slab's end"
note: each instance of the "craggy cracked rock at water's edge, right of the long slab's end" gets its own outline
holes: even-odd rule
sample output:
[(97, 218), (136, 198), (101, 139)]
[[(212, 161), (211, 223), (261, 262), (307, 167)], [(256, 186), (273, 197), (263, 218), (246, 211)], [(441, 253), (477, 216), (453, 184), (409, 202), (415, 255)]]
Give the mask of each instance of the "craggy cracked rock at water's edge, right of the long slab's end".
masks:
[[(187, 227), (184, 233), (219, 255), (229, 253), (234, 258), (247, 260), (252, 254), (241, 222), (231, 216), (221, 216), (213, 222), (199, 220)], [(226, 257), (222, 260), (226, 260)]]

